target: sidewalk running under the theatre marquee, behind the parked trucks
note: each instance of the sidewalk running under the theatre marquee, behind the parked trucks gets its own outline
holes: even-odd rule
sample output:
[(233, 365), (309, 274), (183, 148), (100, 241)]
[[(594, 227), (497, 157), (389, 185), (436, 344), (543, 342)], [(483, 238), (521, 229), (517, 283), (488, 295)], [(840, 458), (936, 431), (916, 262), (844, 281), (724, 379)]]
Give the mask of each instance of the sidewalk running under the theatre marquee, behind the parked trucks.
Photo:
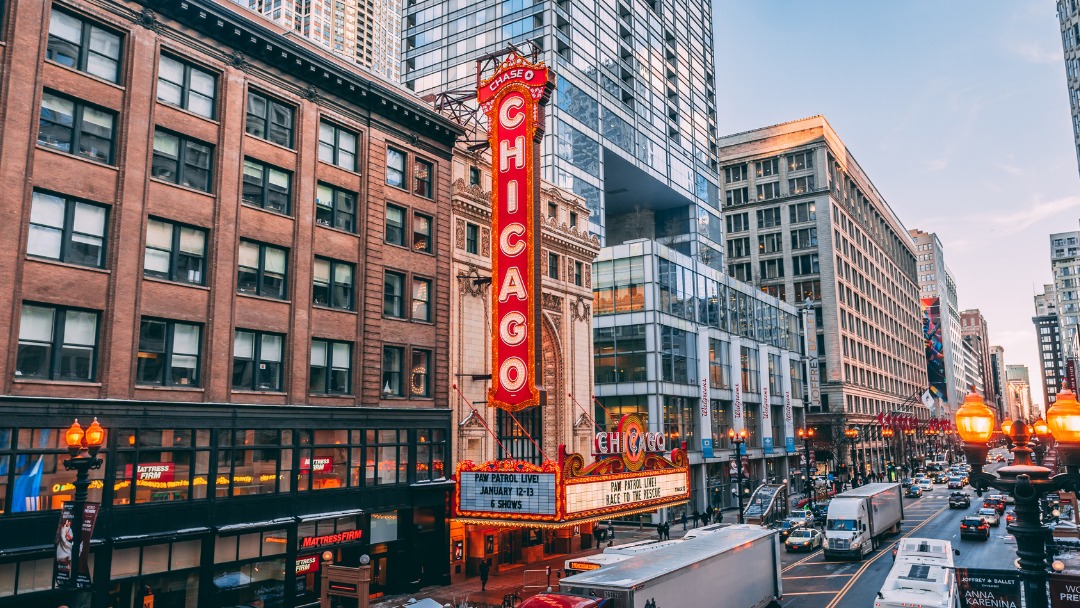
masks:
[[(733, 512), (735, 510), (731, 511)], [(734, 515), (732, 514), (729, 516), (727, 510), (725, 510), (724, 521), (731, 523), (734, 521)], [(693, 529), (693, 526), (688, 526), (687, 529)], [(681, 538), (684, 535), (683, 525), (680, 523), (672, 523), (671, 535), (672, 539)], [(615, 544), (618, 546), (620, 544), (656, 538), (657, 530), (653, 527), (646, 526), (638, 529), (633, 526), (617, 526)], [(525, 570), (542, 570), (550, 566), (551, 587), (557, 591), (558, 577), (556, 576), (556, 570), (561, 570), (563, 566), (566, 565), (567, 559), (595, 555), (603, 552), (605, 548), (606, 543), (599, 548), (586, 549), (584, 551), (565, 553), (562, 555), (552, 555), (546, 559), (541, 559), (531, 564), (515, 564), (510, 567), (504, 567), (499, 571), (492, 569), (491, 576), (487, 580), (487, 589), (483, 592), (480, 590), (480, 577), (472, 577), (446, 586), (426, 586), (414, 594), (380, 597), (378, 602), (372, 604), (372, 608), (397, 608), (410, 597), (415, 597), (417, 599), (428, 597), (438, 602), (440, 604), (449, 604), (450, 606), (458, 606), (463, 602), (469, 602), (471, 605), (474, 604), (480, 606), (484, 606), (485, 604), (490, 606), (501, 606), (502, 596), (508, 593), (512, 593), (522, 586)], [(532, 579), (530, 579), (530, 581)], [(531, 597), (541, 591), (544, 590), (529, 589), (517, 591), (517, 594), (524, 599), (526, 597)]]

